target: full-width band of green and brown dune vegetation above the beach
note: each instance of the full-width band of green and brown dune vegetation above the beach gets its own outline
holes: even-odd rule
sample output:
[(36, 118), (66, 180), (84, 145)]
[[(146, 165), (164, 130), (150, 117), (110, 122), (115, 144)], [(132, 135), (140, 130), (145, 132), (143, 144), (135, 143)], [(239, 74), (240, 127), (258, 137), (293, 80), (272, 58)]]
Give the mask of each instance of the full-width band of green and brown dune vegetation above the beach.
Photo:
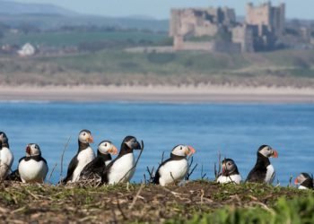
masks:
[(0, 57), (2, 84), (314, 86), (314, 51), (259, 54), (128, 53)]

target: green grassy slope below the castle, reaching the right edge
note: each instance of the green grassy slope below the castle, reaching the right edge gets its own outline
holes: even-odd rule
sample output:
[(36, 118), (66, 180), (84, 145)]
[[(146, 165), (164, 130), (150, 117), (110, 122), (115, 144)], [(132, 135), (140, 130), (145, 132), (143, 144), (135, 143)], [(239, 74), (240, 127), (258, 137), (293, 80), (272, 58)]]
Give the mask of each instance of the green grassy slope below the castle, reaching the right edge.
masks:
[[(57, 63), (66, 69), (84, 73), (154, 73), (154, 74), (220, 74), (248, 69), (247, 73), (313, 77), (310, 67), (314, 67), (314, 51), (300, 54), (274, 52), (260, 54), (265, 65), (260, 65), (246, 55), (214, 54), (204, 52), (178, 53), (126, 53), (119, 50), (104, 50), (96, 54), (81, 56), (62, 56), (42, 59), (43, 62)], [(286, 57), (282, 59), (282, 56)], [(280, 59), (279, 59), (280, 58)], [(307, 66), (307, 67), (304, 67)], [(255, 70), (257, 68), (257, 70)], [(274, 72), (273, 72), (274, 71)], [(279, 76), (281, 74), (279, 73)]]

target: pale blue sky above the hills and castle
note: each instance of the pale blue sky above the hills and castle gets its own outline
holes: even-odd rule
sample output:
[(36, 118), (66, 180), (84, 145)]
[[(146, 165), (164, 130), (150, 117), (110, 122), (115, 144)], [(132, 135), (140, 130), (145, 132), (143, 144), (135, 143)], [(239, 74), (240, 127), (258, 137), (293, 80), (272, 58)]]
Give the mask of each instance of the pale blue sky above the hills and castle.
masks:
[[(148, 15), (156, 19), (170, 17), (172, 7), (229, 6), (237, 15), (245, 14), (245, 4), (260, 4), (262, 0), (14, 0), (22, 3), (49, 3), (63, 6), (78, 13), (104, 16)], [(273, 0), (286, 3), (286, 17), (314, 20), (314, 0)]]

